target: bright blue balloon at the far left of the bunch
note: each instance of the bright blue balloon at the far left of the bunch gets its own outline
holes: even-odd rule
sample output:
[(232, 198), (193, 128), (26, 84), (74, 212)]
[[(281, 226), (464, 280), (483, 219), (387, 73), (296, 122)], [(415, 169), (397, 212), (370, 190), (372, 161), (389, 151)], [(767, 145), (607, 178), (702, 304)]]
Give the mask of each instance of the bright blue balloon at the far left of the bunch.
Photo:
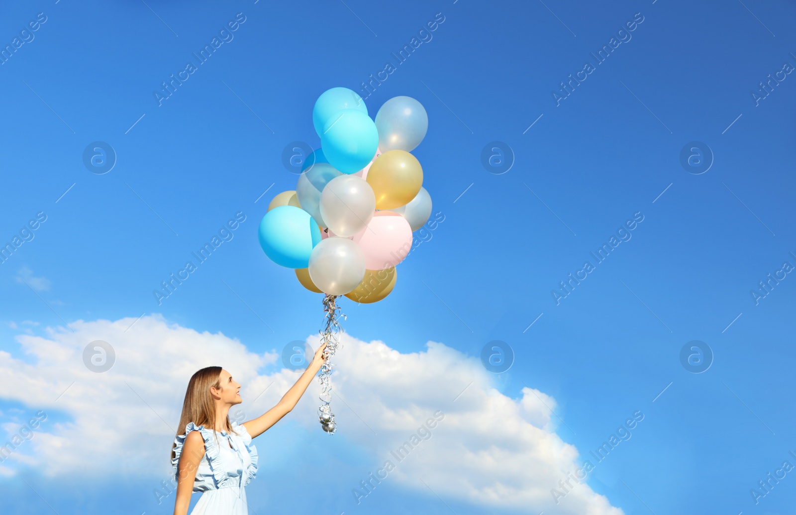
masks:
[(280, 205), (265, 213), (257, 236), (259, 246), (274, 263), (306, 268), (312, 249), (321, 241), (321, 229), (310, 213), (295, 205)]

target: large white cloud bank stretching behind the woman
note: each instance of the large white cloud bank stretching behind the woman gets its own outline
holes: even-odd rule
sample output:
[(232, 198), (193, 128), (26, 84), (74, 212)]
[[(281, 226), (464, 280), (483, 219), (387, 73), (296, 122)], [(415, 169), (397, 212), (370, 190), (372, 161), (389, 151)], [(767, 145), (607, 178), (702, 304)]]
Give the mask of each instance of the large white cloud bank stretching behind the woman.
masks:
[[(35, 358), (26, 361), (34, 365), (0, 351), (0, 376), (6, 384), (24, 385), (4, 390), (3, 396), (24, 402), (32, 412), (71, 417), (42, 423), (33, 439), (0, 465), (0, 475), (25, 465), (53, 476), (77, 470), (100, 475), (119, 463), (128, 471), (167, 474), (182, 396), (197, 369), (220, 365), (243, 384), (244, 404), (231, 415), (238, 408), (248, 416), (265, 411), (299, 375), (287, 369), (259, 374), (264, 365), (277, 362), (277, 354), (251, 353), (221, 333), (197, 333), (159, 315), (143, 317), (125, 332), (133, 322), (77, 321), (70, 324), (75, 333), (46, 328), (46, 337), (19, 335), (21, 348)], [(105, 373), (83, 364), (84, 347), (94, 340), (115, 349), (115, 365)], [(317, 335), (309, 341), (318, 348)], [(332, 400), (339, 425), (335, 436), (374, 456), (368, 471), (375, 473), (391, 460), (396, 468), (385, 481), (426, 490), (425, 482), (442, 497), (494, 508), (622, 515), (585, 483), (559, 505), (553, 501), (550, 490), (579, 465), (576, 448), (555, 433), (552, 397), (531, 388), (523, 388), (517, 400), (505, 396), (477, 358), (442, 343), (429, 341), (422, 352), (404, 354), (382, 341), (366, 343), (349, 334), (342, 342), (333, 359), (332, 384), (341, 396)], [(321, 431), (315, 414), (318, 392), (314, 380), (291, 414), (310, 431)], [(258, 396), (254, 404), (246, 402)], [(399, 462), (390, 451), (438, 411), (444, 418), (431, 437)]]

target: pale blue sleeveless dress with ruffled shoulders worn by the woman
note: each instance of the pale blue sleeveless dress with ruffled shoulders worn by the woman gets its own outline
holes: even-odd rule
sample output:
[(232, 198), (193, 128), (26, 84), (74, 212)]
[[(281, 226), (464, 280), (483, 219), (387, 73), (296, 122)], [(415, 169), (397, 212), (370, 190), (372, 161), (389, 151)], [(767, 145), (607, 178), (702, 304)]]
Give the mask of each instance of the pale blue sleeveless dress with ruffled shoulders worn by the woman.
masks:
[(218, 432), (188, 423), (185, 434), (174, 439), (174, 474), (179, 474), (182, 446), (190, 431), (199, 431), (205, 440), (205, 455), (193, 481), (193, 491), (202, 494), (190, 515), (248, 515), (244, 486), (257, 474), (257, 448), (246, 427), (233, 422), (232, 432)]

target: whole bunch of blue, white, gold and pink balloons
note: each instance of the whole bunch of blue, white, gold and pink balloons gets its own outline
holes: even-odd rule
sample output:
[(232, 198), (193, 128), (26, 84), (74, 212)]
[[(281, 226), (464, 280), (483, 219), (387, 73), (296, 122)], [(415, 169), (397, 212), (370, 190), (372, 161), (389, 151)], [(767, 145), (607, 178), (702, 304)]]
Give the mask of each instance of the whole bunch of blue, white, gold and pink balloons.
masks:
[(331, 88), (312, 123), (321, 148), (306, 158), (295, 190), (268, 205), (259, 244), (307, 290), (380, 301), (395, 287), (412, 232), (431, 215), (423, 169), (410, 154), (426, 135), (426, 110), (396, 96), (374, 121), (356, 92)]

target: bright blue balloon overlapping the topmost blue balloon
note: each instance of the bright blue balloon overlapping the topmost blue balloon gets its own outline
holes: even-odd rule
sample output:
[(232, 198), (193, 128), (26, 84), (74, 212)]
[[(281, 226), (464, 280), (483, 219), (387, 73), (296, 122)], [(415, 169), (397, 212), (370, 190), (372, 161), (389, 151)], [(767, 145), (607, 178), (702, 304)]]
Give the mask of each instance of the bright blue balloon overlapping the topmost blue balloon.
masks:
[(343, 174), (355, 174), (376, 155), (379, 131), (362, 111), (343, 109), (323, 127), (321, 147), (330, 165)]

